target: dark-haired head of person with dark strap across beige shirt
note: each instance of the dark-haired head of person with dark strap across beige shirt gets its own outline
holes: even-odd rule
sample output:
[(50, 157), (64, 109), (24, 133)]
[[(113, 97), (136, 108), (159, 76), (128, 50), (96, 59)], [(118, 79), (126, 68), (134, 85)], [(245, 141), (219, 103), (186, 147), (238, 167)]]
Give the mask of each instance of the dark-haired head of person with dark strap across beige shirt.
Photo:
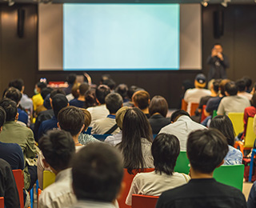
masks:
[(115, 114), (122, 107), (122, 97), (117, 93), (110, 93), (105, 98), (106, 108), (110, 114)]

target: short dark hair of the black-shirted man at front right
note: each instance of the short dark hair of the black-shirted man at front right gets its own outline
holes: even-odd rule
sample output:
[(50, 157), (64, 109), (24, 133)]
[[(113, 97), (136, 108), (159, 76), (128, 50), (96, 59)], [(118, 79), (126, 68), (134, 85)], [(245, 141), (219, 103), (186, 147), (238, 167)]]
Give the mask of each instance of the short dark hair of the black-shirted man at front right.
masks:
[(212, 173), (228, 151), (226, 138), (215, 129), (196, 130), (190, 133), (186, 143), (190, 165), (204, 174)]

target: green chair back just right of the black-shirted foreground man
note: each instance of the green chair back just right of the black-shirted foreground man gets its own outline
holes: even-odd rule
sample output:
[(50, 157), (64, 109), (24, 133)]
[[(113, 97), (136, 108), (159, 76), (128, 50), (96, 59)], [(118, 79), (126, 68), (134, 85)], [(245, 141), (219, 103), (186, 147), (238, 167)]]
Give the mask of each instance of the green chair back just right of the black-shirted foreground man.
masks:
[(242, 191), (244, 170), (244, 165), (220, 166), (214, 170), (214, 178), (217, 182), (222, 182)]

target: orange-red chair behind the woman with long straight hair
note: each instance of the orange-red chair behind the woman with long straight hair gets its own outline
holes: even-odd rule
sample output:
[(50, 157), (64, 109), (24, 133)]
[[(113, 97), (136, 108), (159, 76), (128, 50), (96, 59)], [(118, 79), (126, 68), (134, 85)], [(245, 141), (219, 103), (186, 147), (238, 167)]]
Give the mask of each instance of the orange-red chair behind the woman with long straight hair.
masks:
[(146, 168), (144, 170), (134, 170), (133, 171), (134, 174), (129, 174), (127, 169), (124, 169), (122, 182), (125, 182), (126, 187), (124, 190), (122, 190), (122, 194), (118, 198), (119, 208), (130, 208), (131, 207), (131, 206), (126, 205), (126, 197), (129, 194), (130, 185), (131, 185), (131, 182), (133, 182), (134, 176), (138, 173), (143, 173), (143, 172), (145, 173), (145, 172), (151, 172), (151, 171), (154, 171), (154, 168)]

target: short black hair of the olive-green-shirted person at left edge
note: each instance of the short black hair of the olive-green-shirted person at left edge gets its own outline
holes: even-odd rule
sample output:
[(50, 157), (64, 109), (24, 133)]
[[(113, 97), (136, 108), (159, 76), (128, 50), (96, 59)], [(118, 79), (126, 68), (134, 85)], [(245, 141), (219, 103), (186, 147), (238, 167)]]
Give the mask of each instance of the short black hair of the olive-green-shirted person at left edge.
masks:
[(0, 101), (0, 106), (2, 106), (4, 110), (6, 110), (6, 122), (15, 121), (16, 115), (18, 113), (16, 102), (9, 98), (3, 98)]

